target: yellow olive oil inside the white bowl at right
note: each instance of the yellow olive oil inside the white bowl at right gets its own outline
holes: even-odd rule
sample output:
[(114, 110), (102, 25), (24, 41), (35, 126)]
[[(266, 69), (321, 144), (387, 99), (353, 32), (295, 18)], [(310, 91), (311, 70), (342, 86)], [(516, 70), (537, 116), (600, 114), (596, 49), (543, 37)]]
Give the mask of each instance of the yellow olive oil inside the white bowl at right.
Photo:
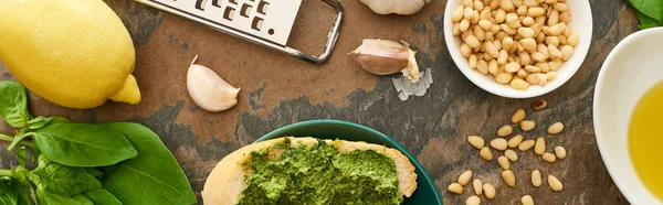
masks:
[(629, 152), (644, 185), (663, 201), (663, 82), (640, 99), (629, 126)]

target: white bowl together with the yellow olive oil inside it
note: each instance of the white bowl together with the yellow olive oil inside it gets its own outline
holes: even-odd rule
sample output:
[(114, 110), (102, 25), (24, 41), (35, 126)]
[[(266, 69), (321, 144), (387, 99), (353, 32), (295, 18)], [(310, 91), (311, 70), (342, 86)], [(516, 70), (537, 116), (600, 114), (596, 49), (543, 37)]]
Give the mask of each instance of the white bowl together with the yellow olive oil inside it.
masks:
[(597, 143), (631, 204), (663, 204), (663, 28), (629, 35), (603, 63), (593, 98)]

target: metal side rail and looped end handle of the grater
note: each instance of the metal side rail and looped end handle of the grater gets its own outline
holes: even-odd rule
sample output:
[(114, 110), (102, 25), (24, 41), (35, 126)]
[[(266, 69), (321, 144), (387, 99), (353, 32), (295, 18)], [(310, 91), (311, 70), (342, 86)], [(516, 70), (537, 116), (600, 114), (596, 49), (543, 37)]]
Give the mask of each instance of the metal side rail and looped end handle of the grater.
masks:
[(337, 0), (322, 0), (322, 1), (326, 2), (327, 4), (334, 7), (334, 9), (336, 10), (336, 18), (334, 20), (334, 24), (332, 25), (332, 30), (329, 30), (329, 33), (327, 34), (327, 43), (325, 44), (325, 51), (319, 56), (315, 56), (315, 55), (306, 54), (304, 52), (301, 52), (299, 50), (290, 47), (287, 45), (280, 45), (277, 43), (274, 43), (274, 42), (271, 42), (271, 41), (267, 41), (267, 40), (254, 36), (254, 35), (246, 34), (246, 33), (235, 30), (233, 28), (222, 25), (222, 24), (199, 18), (199, 17), (196, 17), (191, 13), (182, 12), (181, 10), (177, 10), (171, 7), (164, 6), (164, 4), (155, 2), (152, 0), (134, 0), (134, 1), (149, 6), (151, 8), (155, 8), (155, 9), (161, 10), (161, 11), (166, 11), (166, 12), (182, 17), (185, 19), (189, 19), (191, 21), (210, 26), (217, 31), (221, 31), (223, 33), (234, 35), (236, 37), (256, 43), (259, 45), (263, 45), (263, 46), (276, 50), (281, 53), (288, 54), (291, 56), (297, 57), (302, 61), (313, 63), (313, 64), (323, 64), (332, 55), (332, 51), (334, 50), (334, 46), (336, 45), (336, 41), (338, 40), (338, 34), (340, 33), (340, 25), (343, 23), (343, 19), (344, 19), (343, 15), (345, 12), (343, 9), (343, 6)]

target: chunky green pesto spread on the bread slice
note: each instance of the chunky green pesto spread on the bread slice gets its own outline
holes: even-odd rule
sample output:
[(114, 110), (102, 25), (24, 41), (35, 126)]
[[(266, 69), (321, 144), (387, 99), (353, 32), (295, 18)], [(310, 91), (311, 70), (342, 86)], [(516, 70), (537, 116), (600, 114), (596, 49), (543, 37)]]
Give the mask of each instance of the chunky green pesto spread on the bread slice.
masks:
[(267, 149), (251, 153), (248, 176), (239, 205), (297, 204), (400, 204), (396, 164), (372, 150), (338, 152), (336, 145), (319, 141), (313, 145), (275, 148), (285, 152), (267, 159)]

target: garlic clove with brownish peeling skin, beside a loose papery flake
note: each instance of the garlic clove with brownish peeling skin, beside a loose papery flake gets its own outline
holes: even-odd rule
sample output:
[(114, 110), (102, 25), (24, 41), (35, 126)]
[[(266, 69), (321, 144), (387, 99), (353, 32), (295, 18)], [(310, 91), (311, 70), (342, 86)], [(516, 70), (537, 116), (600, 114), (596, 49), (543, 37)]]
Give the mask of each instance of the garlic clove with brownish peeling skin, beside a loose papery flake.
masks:
[(419, 66), (414, 54), (408, 44), (389, 40), (364, 40), (361, 45), (352, 51), (357, 54), (357, 63), (376, 75), (390, 75), (402, 72), (412, 82), (419, 79)]

